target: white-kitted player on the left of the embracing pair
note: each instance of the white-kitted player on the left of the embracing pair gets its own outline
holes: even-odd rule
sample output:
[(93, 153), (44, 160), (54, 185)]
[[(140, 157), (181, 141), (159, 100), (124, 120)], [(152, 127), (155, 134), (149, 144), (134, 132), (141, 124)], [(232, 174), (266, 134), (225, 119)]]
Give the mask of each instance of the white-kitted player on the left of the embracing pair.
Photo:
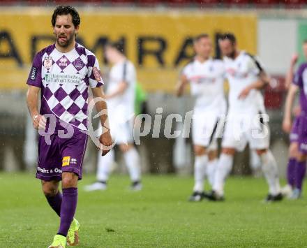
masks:
[[(177, 96), (184, 93), (190, 83), (190, 92), (195, 96), (193, 110), (193, 145), (195, 153), (194, 177), (195, 185), (190, 201), (200, 201), (206, 197), (204, 193), (204, 176), (214, 176), (214, 163), (209, 162), (209, 149), (216, 154), (216, 130), (219, 120), (226, 111), (223, 84), (225, 69), (223, 61), (212, 59), (211, 39), (207, 34), (200, 34), (194, 40), (195, 57), (186, 65), (181, 73), (177, 87)], [(211, 158), (215, 161), (214, 158)], [(209, 169), (209, 170), (208, 170)], [(209, 180), (211, 181), (211, 180)]]

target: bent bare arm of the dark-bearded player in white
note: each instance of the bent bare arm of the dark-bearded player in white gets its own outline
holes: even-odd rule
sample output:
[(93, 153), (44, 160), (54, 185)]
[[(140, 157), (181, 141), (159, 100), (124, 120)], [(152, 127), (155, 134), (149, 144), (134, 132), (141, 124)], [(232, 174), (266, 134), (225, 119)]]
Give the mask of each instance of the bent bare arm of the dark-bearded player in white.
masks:
[(260, 65), (260, 62), (257, 61), (257, 59), (252, 57), (250, 64), (251, 64), (250, 69), (252, 70), (253, 73), (257, 75), (258, 80), (248, 85), (248, 87), (246, 87), (241, 92), (241, 94), (239, 94), (239, 99), (245, 99), (252, 89), (263, 89), (270, 82), (269, 75), (267, 74), (266, 71), (264, 71), (263, 67)]

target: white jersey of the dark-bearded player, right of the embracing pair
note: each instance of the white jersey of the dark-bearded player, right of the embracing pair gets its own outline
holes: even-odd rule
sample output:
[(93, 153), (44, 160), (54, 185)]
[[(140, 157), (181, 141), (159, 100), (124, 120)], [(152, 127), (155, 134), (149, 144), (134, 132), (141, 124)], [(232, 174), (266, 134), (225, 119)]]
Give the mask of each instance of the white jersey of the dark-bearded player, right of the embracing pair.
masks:
[(263, 96), (258, 89), (252, 89), (245, 99), (239, 99), (241, 92), (259, 80), (263, 71), (260, 62), (252, 55), (241, 51), (236, 59), (224, 58), (227, 80), (230, 84), (230, 112), (264, 112)]

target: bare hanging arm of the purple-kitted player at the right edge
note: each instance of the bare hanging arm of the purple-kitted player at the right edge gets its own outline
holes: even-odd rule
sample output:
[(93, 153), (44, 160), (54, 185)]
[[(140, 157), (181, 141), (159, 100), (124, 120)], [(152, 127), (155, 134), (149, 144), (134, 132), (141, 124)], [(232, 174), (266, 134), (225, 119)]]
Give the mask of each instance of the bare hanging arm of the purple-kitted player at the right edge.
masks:
[(290, 133), (292, 128), (291, 110), (295, 94), (297, 94), (298, 90), (299, 87), (297, 85), (291, 84), (287, 92), (287, 98), (285, 100), (285, 115), (283, 117), (283, 131), (285, 131), (286, 133)]

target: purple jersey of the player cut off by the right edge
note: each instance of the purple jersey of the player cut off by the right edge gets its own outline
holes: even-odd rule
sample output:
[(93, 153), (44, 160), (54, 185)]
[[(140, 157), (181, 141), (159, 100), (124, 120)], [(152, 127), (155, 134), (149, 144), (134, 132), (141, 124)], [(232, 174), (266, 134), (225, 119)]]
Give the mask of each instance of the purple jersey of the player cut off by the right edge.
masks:
[(301, 64), (293, 80), (294, 85), (299, 87), (299, 103), (301, 115), (307, 115), (307, 63)]

